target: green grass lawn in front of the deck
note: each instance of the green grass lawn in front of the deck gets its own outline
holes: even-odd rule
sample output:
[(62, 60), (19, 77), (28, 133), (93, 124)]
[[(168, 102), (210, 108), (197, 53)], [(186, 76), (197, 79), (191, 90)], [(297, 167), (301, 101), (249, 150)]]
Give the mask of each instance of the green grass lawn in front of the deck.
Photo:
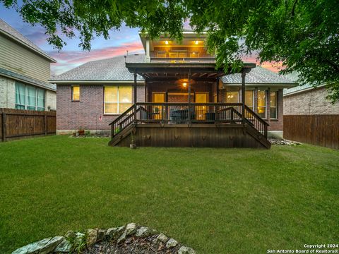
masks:
[(338, 150), (107, 143), (52, 136), (0, 144), (0, 253), (71, 229), (127, 222), (198, 253), (338, 243)]

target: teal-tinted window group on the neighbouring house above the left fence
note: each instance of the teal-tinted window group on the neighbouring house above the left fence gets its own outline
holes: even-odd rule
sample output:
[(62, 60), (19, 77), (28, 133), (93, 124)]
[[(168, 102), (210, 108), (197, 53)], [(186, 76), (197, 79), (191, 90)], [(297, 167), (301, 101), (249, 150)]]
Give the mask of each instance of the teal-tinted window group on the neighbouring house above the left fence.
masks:
[(16, 109), (44, 111), (44, 90), (16, 82)]

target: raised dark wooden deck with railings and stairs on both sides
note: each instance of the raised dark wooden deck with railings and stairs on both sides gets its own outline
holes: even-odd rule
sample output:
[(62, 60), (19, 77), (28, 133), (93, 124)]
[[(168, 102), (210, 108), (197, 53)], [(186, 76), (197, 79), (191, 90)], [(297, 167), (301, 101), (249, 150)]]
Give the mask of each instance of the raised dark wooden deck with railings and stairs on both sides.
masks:
[(111, 123), (109, 145), (270, 148), (268, 123), (241, 110), (239, 103), (137, 103)]

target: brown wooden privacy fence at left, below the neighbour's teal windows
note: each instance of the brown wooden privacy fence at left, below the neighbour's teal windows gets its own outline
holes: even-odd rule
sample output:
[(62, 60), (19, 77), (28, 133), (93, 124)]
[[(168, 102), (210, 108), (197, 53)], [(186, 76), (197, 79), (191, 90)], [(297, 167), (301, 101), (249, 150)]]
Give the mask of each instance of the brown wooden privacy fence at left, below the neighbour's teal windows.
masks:
[(0, 109), (1, 141), (56, 132), (56, 112)]

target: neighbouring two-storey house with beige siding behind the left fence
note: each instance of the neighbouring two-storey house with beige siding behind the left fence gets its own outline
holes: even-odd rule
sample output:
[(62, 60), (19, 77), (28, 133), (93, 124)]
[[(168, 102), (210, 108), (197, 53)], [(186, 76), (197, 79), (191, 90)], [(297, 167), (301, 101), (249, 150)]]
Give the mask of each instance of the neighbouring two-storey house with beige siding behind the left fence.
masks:
[(56, 61), (0, 19), (0, 108), (57, 109), (57, 87), (48, 83)]

